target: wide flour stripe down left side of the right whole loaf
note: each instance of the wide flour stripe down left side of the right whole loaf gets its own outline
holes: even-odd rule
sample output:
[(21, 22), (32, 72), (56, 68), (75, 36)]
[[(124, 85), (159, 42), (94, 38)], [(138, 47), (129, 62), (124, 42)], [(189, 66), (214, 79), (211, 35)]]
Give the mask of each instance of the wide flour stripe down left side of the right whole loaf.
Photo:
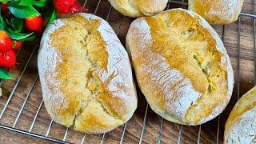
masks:
[[(191, 103), (196, 103), (200, 97), (200, 93), (193, 89), (189, 79), (184, 78), (178, 70), (171, 69), (166, 59), (160, 54), (155, 54), (150, 50), (151, 42), (153, 42), (150, 34), (150, 26), (144, 18), (138, 18), (132, 23), (134, 29), (133, 35), (139, 35), (140, 52), (133, 51), (133, 45), (136, 43), (130, 42), (133, 59), (140, 57), (141, 53), (146, 53), (146, 61), (149, 65), (141, 64), (137, 67), (140, 74), (149, 75), (152, 83), (146, 85), (146, 90), (155, 90), (158, 87), (166, 97), (165, 105), (169, 115), (173, 115), (178, 119), (184, 119), (186, 110), (191, 106)], [(132, 36), (131, 36), (132, 37)], [(154, 106), (150, 103), (150, 106)], [(156, 107), (154, 110), (158, 114), (165, 114), (162, 110)]]

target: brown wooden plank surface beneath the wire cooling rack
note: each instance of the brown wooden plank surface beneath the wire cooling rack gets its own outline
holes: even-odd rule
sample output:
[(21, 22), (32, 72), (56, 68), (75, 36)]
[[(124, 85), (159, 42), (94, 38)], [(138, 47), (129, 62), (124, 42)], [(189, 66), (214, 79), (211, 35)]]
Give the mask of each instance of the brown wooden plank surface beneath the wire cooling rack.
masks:
[[(84, 1), (81, 1), (82, 3)], [(180, 1), (182, 2), (182, 1)], [(96, 8), (98, 6), (98, 10)], [(113, 27), (118, 38), (125, 46), (125, 38), (130, 22), (134, 18), (127, 18), (119, 14), (118, 11), (111, 8), (107, 0), (88, 0), (86, 7), (89, 8), (89, 13), (96, 14), (106, 19)], [(178, 4), (170, 4), (170, 8), (182, 7)], [(186, 6), (184, 6), (186, 8)], [(245, 0), (242, 12), (254, 13), (254, 0)], [(74, 130), (67, 130), (66, 141), (80, 143), (84, 138), (85, 143), (222, 143), (223, 132), (226, 118), (230, 110), (234, 106), (238, 97), (246, 93), (254, 86), (254, 35), (253, 35), (253, 19), (241, 17), (240, 26), (240, 64), (238, 65), (238, 22), (223, 26), (213, 26), (220, 37), (224, 36), (223, 41), (226, 50), (230, 55), (232, 66), (234, 68), (234, 92), (229, 106), (223, 113), (214, 120), (206, 122), (202, 126), (180, 126), (172, 122), (162, 119), (158, 114), (155, 114), (148, 106), (146, 110), (146, 99), (138, 89), (138, 109), (134, 116), (124, 126), (119, 126), (117, 129), (110, 131), (107, 134), (81, 134)], [(20, 113), (18, 121), (14, 126), (20, 130), (30, 130), (32, 123), (34, 126), (31, 131), (35, 134), (46, 135), (50, 126), (50, 116), (47, 114), (44, 105), (38, 110), (42, 102), (42, 91), (38, 79), (37, 69), (37, 53), (38, 41), (22, 47), (18, 54), (18, 62), (20, 63), (15, 70), (11, 70), (14, 76), (12, 81), (4, 81), (2, 84), (3, 96), (0, 98), (0, 112), (3, 112), (8, 98), (10, 102), (2, 118), (0, 124), (5, 126), (14, 126), (14, 122)], [(28, 60), (30, 59), (30, 62)], [(240, 67), (240, 86), (238, 88), (238, 67)], [(25, 68), (25, 69), (24, 69)], [(23, 71), (24, 70), (24, 71)], [(23, 74), (22, 74), (23, 73)], [(22, 77), (20, 77), (22, 74)], [(239, 90), (238, 90), (239, 89)], [(238, 93), (239, 92), (239, 93)], [(20, 112), (22, 104), (27, 98), (24, 109)], [(38, 117), (35, 115), (38, 111)], [(48, 136), (50, 138), (58, 138), (62, 140), (66, 133), (66, 127), (52, 123)], [(21, 142), (37, 142), (42, 140), (37, 138), (29, 138), (24, 136), (16, 136), (13, 132), (0, 130), (0, 141), (12, 143), (22, 139)], [(20, 141), (19, 141), (20, 142)], [(42, 141), (43, 142), (43, 141)]]

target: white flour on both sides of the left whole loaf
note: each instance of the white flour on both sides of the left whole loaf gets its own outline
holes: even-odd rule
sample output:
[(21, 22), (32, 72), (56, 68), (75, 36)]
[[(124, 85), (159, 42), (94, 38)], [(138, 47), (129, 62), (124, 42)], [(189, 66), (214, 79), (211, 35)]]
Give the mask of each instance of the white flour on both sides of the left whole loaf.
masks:
[[(129, 107), (136, 107), (137, 97), (130, 61), (122, 43), (105, 20), (93, 14), (81, 13), (80, 15), (87, 19), (102, 20), (101, 25), (98, 27), (98, 31), (106, 42), (106, 51), (108, 52), (109, 57), (107, 69), (98, 70), (98, 77), (102, 82), (107, 81), (106, 83), (108, 83), (110, 92), (114, 97), (122, 99), (127, 110), (130, 110)], [(45, 104), (48, 105), (46, 107), (62, 107), (62, 104), (65, 101), (65, 95), (62, 94), (62, 91), (59, 89), (60, 82), (57, 80), (58, 70), (55, 70), (56, 66), (58, 66), (59, 63), (62, 63), (61, 53), (53, 48), (50, 39), (50, 34), (62, 26), (64, 26), (62, 19), (55, 20), (50, 26), (47, 26), (38, 53), (38, 71), (42, 83), (42, 96)], [(48, 112), (51, 118), (54, 118), (55, 122), (62, 122), (62, 119), (58, 119), (59, 117), (54, 116), (58, 115), (56, 109), (49, 109)], [(126, 114), (126, 116), (131, 117), (133, 112), (133, 110), (127, 111), (129, 114)]]

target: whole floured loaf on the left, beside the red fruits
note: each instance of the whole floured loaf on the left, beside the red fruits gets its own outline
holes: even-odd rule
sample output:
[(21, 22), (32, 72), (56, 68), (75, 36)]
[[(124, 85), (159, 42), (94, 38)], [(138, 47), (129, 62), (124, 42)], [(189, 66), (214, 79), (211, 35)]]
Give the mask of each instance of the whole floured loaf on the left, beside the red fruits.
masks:
[(110, 25), (93, 14), (58, 19), (46, 28), (38, 71), (50, 117), (74, 130), (113, 130), (137, 108), (128, 54)]

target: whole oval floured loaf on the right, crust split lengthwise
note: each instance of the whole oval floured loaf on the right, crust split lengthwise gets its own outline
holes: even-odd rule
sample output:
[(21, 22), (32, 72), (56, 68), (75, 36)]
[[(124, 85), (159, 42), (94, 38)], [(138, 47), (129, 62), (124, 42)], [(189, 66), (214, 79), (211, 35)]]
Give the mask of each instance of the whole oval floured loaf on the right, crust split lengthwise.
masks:
[(167, 10), (132, 22), (126, 48), (138, 85), (163, 118), (199, 125), (230, 101), (234, 75), (214, 29), (188, 10)]

